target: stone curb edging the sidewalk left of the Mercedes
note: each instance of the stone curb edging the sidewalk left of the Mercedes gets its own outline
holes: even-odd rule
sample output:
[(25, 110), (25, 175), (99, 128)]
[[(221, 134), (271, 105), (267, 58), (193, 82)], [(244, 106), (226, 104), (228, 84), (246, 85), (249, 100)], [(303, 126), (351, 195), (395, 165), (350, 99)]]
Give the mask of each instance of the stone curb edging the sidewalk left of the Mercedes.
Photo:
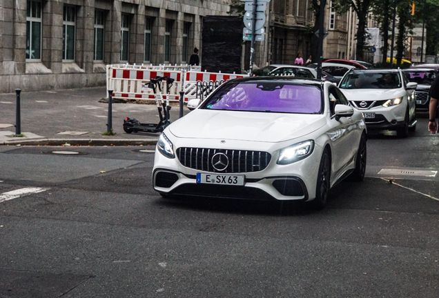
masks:
[(148, 146), (157, 144), (157, 139), (35, 139), (0, 141), (0, 146)]

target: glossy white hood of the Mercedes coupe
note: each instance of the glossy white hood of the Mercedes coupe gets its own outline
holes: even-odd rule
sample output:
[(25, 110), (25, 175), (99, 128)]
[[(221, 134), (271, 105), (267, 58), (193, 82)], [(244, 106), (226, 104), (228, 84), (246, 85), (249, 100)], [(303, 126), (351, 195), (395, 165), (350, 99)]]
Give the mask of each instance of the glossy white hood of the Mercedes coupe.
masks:
[(280, 142), (308, 135), (325, 123), (324, 115), (193, 110), (169, 130), (182, 138)]

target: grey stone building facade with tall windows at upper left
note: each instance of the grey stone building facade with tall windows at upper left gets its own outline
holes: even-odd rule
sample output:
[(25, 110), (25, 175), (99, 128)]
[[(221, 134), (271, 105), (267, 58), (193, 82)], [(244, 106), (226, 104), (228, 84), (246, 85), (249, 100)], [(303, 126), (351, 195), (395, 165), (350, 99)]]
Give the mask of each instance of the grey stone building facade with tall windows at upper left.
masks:
[(230, 0), (0, 0), (0, 93), (102, 86), (106, 64), (186, 63)]

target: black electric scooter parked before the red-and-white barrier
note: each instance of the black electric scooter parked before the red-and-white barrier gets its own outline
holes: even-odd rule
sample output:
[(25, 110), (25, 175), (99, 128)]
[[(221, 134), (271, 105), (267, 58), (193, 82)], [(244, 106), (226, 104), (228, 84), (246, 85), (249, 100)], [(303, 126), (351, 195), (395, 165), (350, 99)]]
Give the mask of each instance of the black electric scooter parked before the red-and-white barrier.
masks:
[[(166, 101), (163, 100), (162, 95), (162, 81), (166, 81)], [(137, 119), (124, 119), (124, 130), (126, 133), (131, 132), (162, 132), (170, 124), (170, 108), (169, 106), (169, 90), (173, 86), (174, 79), (170, 77), (155, 77), (148, 83), (148, 88), (153, 89), (155, 104), (159, 111), (159, 123), (140, 123)], [(157, 94), (157, 87), (159, 92)], [(162, 106), (160, 106), (162, 105)], [(163, 115), (162, 115), (163, 111)]]

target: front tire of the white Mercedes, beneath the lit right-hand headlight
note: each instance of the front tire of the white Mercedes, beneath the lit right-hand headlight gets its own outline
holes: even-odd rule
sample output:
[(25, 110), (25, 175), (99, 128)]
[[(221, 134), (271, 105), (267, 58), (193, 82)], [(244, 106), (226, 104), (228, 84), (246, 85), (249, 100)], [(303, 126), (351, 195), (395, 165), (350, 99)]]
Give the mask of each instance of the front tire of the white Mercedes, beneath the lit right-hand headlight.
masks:
[(317, 186), (315, 188), (315, 199), (311, 201), (314, 209), (320, 210), (328, 203), (329, 183), (331, 179), (331, 156), (329, 150), (325, 149), (320, 159)]

